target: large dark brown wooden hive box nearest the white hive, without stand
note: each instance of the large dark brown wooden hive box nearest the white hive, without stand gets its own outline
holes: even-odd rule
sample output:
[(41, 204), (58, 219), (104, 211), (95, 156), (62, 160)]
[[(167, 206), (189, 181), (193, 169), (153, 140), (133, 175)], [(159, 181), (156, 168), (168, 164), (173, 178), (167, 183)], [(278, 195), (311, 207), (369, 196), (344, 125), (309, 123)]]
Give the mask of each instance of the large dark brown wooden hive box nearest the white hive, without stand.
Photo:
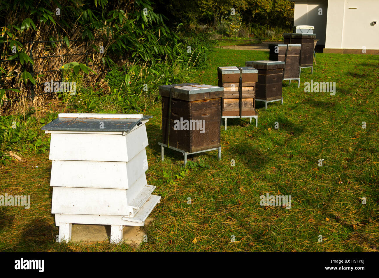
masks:
[[(159, 94), (162, 96), (163, 143), (187, 152), (221, 146), (220, 118), (223, 93), (221, 87), (196, 83), (159, 86)], [(175, 129), (175, 120), (182, 121), (183, 128)], [(197, 123), (202, 121), (204, 133), (199, 129), (185, 129), (185, 120), (193, 123), (192, 126), (195, 127), (199, 127)], [(191, 127), (191, 124), (188, 127)]]

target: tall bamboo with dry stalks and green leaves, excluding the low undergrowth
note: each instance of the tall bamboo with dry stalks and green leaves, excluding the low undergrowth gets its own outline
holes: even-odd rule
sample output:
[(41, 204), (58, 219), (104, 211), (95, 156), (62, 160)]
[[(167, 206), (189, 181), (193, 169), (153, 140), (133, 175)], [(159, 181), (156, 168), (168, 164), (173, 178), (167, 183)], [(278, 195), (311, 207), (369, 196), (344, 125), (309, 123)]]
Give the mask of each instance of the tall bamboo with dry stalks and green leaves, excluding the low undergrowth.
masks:
[(86, 64), (99, 73), (81, 72), (86, 86), (101, 82), (113, 65), (182, 61), (183, 46), (150, 0), (0, 1), (0, 19), (0, 89), (20, 91), (4, 91), (2, 97), (13, 101), (0, 109), (42, 95), (44, 82), (60, 81), (64, 64)]

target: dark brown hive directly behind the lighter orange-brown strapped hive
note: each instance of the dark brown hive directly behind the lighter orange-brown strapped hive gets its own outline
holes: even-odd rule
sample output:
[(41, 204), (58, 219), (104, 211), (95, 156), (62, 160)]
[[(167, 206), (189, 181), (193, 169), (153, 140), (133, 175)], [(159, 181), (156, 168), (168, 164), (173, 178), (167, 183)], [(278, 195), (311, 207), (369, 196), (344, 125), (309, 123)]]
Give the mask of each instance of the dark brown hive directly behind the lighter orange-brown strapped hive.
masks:
[(265, 101), (281, 99), (284, 62), (254, 61), (253, 67), (258, 70), (255, 97)]

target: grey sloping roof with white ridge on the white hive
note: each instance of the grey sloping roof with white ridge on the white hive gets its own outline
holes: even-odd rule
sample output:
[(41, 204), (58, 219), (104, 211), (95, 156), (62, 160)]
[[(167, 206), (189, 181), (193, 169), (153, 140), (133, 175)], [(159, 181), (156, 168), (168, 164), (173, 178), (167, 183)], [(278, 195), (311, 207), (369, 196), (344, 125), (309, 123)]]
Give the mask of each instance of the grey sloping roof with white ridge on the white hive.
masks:
[[(153, 116), (142, 114), (60, 113), (58, 118), (41, 127), (48, 131), (130, 132), (136, 125)], [(101, 123), (100, 123), (101, 122)]]

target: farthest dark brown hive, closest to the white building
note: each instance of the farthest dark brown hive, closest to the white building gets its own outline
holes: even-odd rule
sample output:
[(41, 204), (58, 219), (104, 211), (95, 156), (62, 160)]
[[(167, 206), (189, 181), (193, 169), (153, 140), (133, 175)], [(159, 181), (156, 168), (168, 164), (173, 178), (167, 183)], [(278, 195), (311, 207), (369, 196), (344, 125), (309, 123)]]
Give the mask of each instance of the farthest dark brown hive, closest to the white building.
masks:
[(300, 66), (313, 66), (313, 49), (315, 47), (316, 34), (306, 33), (285, 33), (283, 34), (284, 43), (301, 44), (300, 51)]

